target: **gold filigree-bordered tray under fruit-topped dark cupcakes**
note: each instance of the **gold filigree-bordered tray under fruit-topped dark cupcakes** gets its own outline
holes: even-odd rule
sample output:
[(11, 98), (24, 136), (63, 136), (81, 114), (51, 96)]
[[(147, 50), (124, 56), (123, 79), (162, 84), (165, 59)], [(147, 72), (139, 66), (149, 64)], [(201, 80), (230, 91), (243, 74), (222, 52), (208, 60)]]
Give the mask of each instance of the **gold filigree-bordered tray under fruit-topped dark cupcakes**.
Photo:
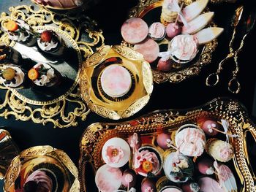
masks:
[(80, 14), (79, 18), (72, 18), (56, 15), (42, 7), (26, 5), (10, 7), (10, 14), (2, 12), (1, 42), (20, 51), (23, 58), (31, 58), (35, 62), (48, 61), (49, 58), (34, 50), (34, 47), (10, 42), (8, 34), (4, 31), (4, 23), (10, 19), (25, 20), (35, 31), (48, 28), (61, 35), (70, 51), (67, 56), (61, 57), (64, 59), (59, 60), (58, 64), (53, 64), (53, 67), (65, 74), (68, 82), (65, 82), (67, 86), (56, 91), (54, 96), (41, 96), (42, 94), (30, 90), (1, 87), (1, 95), (5, 97), (0, 99), (0, 117), (8, 118), (14, 115), (17, 120), (32, 120), (43, 125), (53, 123), (54, 127), (59, 128), (77, 126), (78, 118), (86, 120), (89, 109), (80, 98), (77, 84), (80, 64), (104, 44), (104, 37), (102, 31), (97, 28), (97, 23), (84, 14)]

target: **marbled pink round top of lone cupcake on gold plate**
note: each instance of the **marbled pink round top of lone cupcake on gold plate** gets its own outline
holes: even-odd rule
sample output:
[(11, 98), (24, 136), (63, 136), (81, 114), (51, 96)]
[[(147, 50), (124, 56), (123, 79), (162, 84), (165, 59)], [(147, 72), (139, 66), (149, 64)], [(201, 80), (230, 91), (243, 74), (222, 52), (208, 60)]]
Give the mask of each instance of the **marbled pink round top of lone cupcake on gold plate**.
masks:
[(108, 96), (120, 97), (128, 93), (132, 78), (128, 70), (116, 64), (108, 66), (100, 78), (103, 91)]

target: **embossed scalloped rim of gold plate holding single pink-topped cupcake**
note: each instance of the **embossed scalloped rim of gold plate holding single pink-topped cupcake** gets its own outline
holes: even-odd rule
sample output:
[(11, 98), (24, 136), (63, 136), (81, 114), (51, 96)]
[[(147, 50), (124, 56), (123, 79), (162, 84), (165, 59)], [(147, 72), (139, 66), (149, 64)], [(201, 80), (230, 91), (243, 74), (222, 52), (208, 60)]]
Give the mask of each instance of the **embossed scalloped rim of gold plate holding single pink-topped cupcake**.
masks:
[[(105, 45), (101, 47), (96, 53), (89, 56), (83, 66), (91, 67), (96, 66), (101, 63), (101, 61), (108, 55), (110, 50), (115, 51), (118, 55), (123, 56), (124, 58), (130, 59), (132, 61), (141, 61), (142, 64), (142, 76), (143, 76), (143, 86), (146, 89), (147, 95), (143, 96), (143, 98), (138, 99), (134, 103), (130, 104), (127, 109), (124, 109), (124, 112), (115, 112), (113, 110), (109, 110), (106, 107), (94, 104), (90, 99), (90, 80), (88, 75), (85, 72), (85, 69), (82, 69), (80, 72), (80, 90), (82, 94), (82, 98), (86, 101), (89, 109), (98, 115), (101, 115), (105, 118), (110, 118), (113, 120), (118, 120), (121, 118), (128, 118), (129, 116), (134, 115), (136, 112), (141, 110), (149, 101), (151, 93), (153, 91), (153, 76), (151, 73), (151, 67), (148, 62), (145, 61), (143, 55), (137, 53), (135, 50), (132, 50), (129, 47), (123, 45), (114, 45), (108, 46)], [(129, 52), (129, 53), (128, 53)]]

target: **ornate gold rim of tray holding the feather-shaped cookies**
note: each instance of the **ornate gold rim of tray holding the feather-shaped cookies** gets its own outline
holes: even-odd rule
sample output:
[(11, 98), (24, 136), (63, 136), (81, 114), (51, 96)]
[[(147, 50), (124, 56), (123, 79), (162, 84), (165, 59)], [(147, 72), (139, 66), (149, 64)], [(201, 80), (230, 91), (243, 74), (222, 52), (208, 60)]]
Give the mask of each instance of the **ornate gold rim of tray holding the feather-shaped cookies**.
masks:
[[(183, 0), (185, 4), (191, 4), (194, 0)], [(162, 6), (163, 0), (140, 0), (138, 5), (133, 7), (129, 11), (129, 18), (138, 17), (143, 18), (147, 12), (156, 7)], [(215, 24), (211, 24), (215, 26)], [(187, 68), (178, 70), (177, 72), (161, 72), (157, 69), (152, 69), (154, 82), (162, 83), (162, 82), (181, 82), (187, 77), (192, 77), (200, 74), (200, 71), (203, 66), (209, 64), (211, 62), (211, 54), (217, 47), (217, 39), (214, 39), (212, 42), (207, 43), (200, 54), (200, 58), (195, 61), (194, 64), (188, 66)]]

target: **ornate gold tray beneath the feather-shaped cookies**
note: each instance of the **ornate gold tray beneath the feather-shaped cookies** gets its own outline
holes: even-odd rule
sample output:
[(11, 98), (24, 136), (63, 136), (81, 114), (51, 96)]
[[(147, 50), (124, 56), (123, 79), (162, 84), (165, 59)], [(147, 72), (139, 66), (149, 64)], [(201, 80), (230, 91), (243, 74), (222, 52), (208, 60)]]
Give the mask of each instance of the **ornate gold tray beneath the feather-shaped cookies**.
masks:
[[(138, 5), (132, 8), (129, 12), (129, 17), (142, 18), (148, 23), (148, 26), (151, 23), (159, 22), (160, 15), (162, 11), (162, 1), (158, 0), (140, 0)], [(191, 4), (192, 0), (184, 0), (184, 4)], [(207, 11), (207, 10), (206, 10)], [(214, 23), (211, 23), (211, 26), (216, 26)], [(167, 39), (159, 42), (160, 51), (167, 50)], [(157, 70), (157, 62), (151, 64), (154, 82), (181, 82), (187, 77), (192, 77), (197, 74), (200, 74), (200, 71), (203, 66), (211, 63), (211, 55), (217, 47), (217, 39), (214, 39), (212, 42), (207, 43), (202, 46), (197, 53), (197, 57), (192, 61), (189, 61), (187, 64), (173, 64), (172, 69), (168, 72), (161, 72)], [(158, 60), (157, 60), (158, 61)]]

